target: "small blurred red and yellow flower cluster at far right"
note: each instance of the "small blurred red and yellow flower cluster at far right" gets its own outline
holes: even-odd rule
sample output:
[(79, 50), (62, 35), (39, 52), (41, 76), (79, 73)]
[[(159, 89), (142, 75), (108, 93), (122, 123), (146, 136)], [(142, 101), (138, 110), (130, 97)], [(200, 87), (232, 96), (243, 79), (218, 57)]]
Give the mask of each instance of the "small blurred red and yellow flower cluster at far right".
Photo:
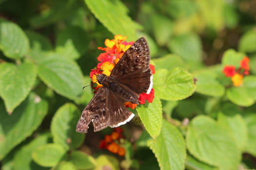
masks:
[(234, 86), (239, 86), (243, 83), (243, 76), (250, 74), (250, 66), (249, 66), (250, 59), (245, 56), (240, 61), (240, 67), (235, 68), (235, 66), (225, 66), (223, 69), (223, 73), (226, 77), (231, 77)]

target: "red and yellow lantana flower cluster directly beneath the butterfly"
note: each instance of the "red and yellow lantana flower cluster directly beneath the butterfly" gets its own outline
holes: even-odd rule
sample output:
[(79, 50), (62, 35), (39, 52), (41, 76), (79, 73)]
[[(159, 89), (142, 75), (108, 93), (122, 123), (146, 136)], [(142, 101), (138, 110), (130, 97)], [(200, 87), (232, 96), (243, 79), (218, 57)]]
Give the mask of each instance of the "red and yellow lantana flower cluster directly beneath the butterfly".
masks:
[[(114, 39), (105, 40), (105, 48), (98, 47), (99, 50), (102, 50), (104, 52), (100, 53), (98, 56), (98, 65), (96, 69), (91, 69), (90, 72), (90, 78), (92, 79), (93, 83), (96, 83), (97, 86), (93, 87), (95, 89), (95, 92), (98, 90), (98, 88), (102, 87), (97, 81), (97, 75), (98, 74), (105, 74), (106, 76), (110, 76), (110, 73), (112, 69), (115, 67), (115, 65), (118, 63), (120, 58), (123, 56), (124, 52), (128, 50), (132, 45), (133, 41), (126, 42), (127, 36), (122, 36), (122, 35), (115, 35)], [(155, 67), (153, 65), (150, 65), (150, 69), (152, 70), (152, 73), (155, 73)], [(95, 93), (94, 92), (94, 93)], [(150, 91), (149, 94), (146, 93), (140, 93), (139, 95), (139, 103), (144, 104), (145, 100), (148, 102), (153, 102), (154, 99), (154, 89)], [(130, 107), (134, 109), (137, 104), (132, 103), (132, 102), (125, 102), (124, 105), (126, 107)]]

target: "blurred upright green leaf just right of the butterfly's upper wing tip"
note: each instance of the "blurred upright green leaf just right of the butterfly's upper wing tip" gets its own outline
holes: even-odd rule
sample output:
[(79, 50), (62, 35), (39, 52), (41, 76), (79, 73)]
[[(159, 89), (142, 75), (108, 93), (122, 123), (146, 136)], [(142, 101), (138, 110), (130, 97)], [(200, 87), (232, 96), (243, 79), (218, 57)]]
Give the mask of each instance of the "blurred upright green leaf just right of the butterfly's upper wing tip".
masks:
[(173, 34), (173, 21), (161, 15), (152, 15), (153, 34), (160, 46), (169, 42)]

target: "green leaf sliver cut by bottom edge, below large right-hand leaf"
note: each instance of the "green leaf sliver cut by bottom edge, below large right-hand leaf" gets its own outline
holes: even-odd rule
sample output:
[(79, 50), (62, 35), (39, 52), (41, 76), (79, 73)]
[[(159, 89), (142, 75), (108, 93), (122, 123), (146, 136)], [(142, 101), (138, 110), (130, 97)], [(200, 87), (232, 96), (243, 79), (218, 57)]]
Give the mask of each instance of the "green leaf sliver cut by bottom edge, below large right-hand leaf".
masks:
[(211, 167), (208, 164), (198, 161), (191, 155), (187, 155), (185, 166), (186, 170), (218, 170), (215, 167)]

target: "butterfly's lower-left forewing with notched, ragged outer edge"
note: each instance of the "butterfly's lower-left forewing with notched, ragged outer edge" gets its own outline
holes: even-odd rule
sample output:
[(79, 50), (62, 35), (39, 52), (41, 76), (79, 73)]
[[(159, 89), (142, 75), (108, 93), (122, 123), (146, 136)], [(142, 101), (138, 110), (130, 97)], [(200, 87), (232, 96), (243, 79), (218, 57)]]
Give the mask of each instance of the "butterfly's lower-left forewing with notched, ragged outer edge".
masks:
[(100, 131), (109, 124), (109, 115), (106, 107), (106, 98), (109, 90), (106, 87), (98, 89), (92, 100), (84, 108), (78, 121), (76, 131), (79, 133), (87, 133), (88, 125), (93, 121), (94, 131)]

